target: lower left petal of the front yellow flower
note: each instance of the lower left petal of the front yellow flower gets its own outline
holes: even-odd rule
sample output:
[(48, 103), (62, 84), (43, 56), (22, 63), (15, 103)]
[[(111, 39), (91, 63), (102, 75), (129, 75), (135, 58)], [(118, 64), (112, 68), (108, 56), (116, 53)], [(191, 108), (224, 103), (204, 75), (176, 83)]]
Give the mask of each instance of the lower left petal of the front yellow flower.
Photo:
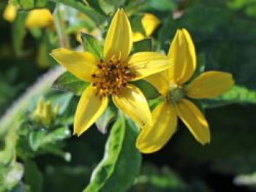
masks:
[(80, 98), (75, 112), (74, 134), (83, 134), (108, 106), (108, 97), (96, 96), (92, 85), (89, 85)]

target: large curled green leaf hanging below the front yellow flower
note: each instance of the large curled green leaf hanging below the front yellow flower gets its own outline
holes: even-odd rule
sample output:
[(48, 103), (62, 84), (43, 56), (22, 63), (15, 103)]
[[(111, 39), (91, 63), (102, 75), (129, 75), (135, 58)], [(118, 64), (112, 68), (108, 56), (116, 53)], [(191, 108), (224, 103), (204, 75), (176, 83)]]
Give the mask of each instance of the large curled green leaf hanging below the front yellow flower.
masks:
[(141, 155), (135, 148), (138, 131), (120, 115), (110, 131), (105, 155), (84, 192), (127, 191), (140, 171)]

